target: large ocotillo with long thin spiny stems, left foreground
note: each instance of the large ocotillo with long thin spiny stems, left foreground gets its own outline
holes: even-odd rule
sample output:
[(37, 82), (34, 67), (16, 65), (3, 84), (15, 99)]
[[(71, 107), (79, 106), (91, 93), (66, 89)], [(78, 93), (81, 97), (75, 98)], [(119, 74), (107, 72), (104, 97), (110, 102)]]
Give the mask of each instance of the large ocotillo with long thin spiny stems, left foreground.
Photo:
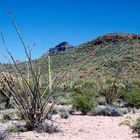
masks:
[[(14, 70), (14, 76), (8, 73), (5, 67), (1, 65), (0, 69), (1, 71), (3, 71), (3, 73), (0, 75), (0, 79), (3, 85), (3, 92), (7, 96), (11, 94), (11, 97), (14, 100), (15, 106), (24, 117), (27, 129), (34, 130), (38, 126), (38, 124), (43, 125), (43, 122), (46, 119), (46, 115), (48, 114), (50, 109), (54, 107), (57, 99), (59, 98), (58, 96), (59, 91), (57, 90), (57, 88), (63, 83), (63, 80), (65, 79), (67, 73), (72, 68), (72, 65), (69, 66), (69, 68), (64, 72), (62, 77), (59, 78), (59, 80), (57, 80), (55, 84), (53, 84), (55, 81), (55, 78), (52, 81), (49, 80), (49, 85), (46, 86), (44, 91), (41, 91), (40, 80), (41, 80), (41, 75), (43, 74), (43, 71), (45, 68), (44, 66), (46, 64), (47, 57), (45, 57), (44, 60), (41, 60), (41, 66), (38, 63), (39, 60), (32, 61), (31, 49), (29, 49), (26, 46), (11, 13), (9, 13), (9, 15), (13, 23), (13, 26), (15, 28), (15, 31), (18, 34), (19, 39), (23, 45), (25, 55), (28, 59), (27, 63), (28, 63), (28, 70), (30, 70), (30, 79), (27, 78), (27, 76), (23, 74), (21, 67), (19, 66), (17, 61), (14, 59), (9, 49), (7, 48), (7, 44), (5, 42), (2, 31), (1, 31), (2, 42), (4, 44), (4, 47), (10, 59), (13, 62), (12, 67)], [(84, 59), (84, 58), (81, 58), (81, 59)], [(49, 60), (48, 67), (50, 69), (50, 57), (48, 57), (48, 60)], [(86, 61), (81, 65), (81, 67), (85, 63)], [(73, 76), (79, 71), (79, 69), (74, 71), (74, 74), (71, 75), (71, 78), (69, 78), (69, 81), (73, 79)], [(50, 76), (49, 79), (51, 79), (51, 71), (49, 72), (49, 76)], [(47, 93), (47, 96), (44, 99), (43, 95), (45, 93)], [(54, 97), (55, 95), (57, 95), (57, 98), (55, 98), (55, 101), (51, 104), (51, 106), (48, 106), (51, 98)]]

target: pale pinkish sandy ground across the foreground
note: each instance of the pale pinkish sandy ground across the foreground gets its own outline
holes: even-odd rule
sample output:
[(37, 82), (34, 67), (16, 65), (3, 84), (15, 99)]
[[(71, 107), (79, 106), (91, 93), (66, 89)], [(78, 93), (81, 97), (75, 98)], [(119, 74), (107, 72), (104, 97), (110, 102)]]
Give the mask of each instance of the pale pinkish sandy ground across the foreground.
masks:
[(123, 117), (73, 115), (69, 119), (56, 120), (61, 124), (62, 132), (38, 134), (36, 132), (15, 133), (10, 140), (138, 140), (137, 134), (126, 125), (120, 125), (127, 116), (135, 119), (140, 114)]

